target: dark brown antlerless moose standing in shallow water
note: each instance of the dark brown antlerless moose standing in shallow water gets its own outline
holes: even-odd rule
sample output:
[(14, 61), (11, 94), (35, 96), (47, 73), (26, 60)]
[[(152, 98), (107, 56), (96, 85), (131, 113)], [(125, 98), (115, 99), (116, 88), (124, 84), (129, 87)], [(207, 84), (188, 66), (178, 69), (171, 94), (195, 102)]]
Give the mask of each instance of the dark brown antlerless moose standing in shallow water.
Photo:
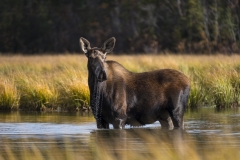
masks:
[(80, 38), (88, 69), (90, 106), (97, 128), (124, 129), (125, 125), (143, 126), (159, 121), (162, 128), (184, 129), (190, 82), (173, 69), (133, 73), (116, 61), (106, 60), (115, 46), (114, 37), (101, 48), (91, 48)]

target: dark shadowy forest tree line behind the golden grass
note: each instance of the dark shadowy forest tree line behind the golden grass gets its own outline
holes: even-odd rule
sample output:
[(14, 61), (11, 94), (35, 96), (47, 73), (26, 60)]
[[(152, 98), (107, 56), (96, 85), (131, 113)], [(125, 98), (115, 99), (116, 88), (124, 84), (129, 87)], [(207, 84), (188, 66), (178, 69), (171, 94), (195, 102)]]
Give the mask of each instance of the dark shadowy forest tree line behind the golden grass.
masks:
[(0, 52), (239, 53), (240, 0), (1, 0)]

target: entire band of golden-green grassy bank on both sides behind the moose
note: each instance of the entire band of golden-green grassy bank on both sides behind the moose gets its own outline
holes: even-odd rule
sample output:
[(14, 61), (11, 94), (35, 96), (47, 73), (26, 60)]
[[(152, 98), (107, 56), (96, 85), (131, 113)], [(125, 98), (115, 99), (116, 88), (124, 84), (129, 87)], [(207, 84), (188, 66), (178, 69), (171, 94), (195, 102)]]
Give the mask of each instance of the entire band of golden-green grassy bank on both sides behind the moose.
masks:
[[(133, 72), (172, 68), (191, 79), (189, 107), (234, 107), (240, 101), (240, 56), (108, 56)], [(0, 56), (1, 110), (86, 110), (84, 55)]]

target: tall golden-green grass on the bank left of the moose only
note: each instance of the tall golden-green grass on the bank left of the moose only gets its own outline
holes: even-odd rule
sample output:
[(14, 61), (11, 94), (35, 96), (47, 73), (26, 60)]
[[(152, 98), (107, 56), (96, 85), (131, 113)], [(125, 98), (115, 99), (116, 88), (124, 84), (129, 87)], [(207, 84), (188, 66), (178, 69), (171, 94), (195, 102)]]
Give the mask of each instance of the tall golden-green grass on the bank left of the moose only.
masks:
[(0, 62), (1, 110), (89, 109), (85, 57), (1, 56)]

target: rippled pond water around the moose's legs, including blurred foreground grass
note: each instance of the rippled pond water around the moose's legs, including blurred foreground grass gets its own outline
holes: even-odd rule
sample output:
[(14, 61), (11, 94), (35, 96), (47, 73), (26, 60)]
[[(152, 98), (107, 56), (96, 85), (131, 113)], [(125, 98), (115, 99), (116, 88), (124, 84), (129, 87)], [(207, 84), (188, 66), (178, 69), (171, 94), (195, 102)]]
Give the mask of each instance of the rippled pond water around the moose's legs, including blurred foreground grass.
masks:
[(91, 114), (1, 112), (1, 159), (240, 159), (240, 109), (185, 113), (185, 130), (158, 122), (99, 130)]

